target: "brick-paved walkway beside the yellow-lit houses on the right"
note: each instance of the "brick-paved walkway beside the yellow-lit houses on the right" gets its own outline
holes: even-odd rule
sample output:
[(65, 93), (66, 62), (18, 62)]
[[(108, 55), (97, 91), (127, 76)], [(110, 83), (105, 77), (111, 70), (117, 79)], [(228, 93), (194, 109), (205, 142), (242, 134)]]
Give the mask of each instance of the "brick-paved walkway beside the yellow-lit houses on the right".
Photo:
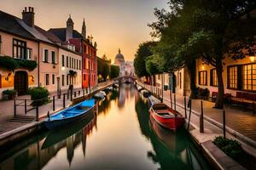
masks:
[[(150, 89), (150, 88), (148, 88)], [(172, 103), (174, 96), (172, 95)], [(184, 98), (181, 95), (176, 95), (177, 101), (177, 110), (184, 112)], [(188, 98), (187, 98), (188, 101)], [(164, 91), (164, 102), (170, 105), (170, 91)], [(214, 103), (210, 101), (203, 100), (203, 109), (204, 115), (217, 122), (219, 125), (222, 124), (223, 110), (213, 109)], [(174, 105), (173, 105), (174, 106)], [(201, 113), (201, 100), (193, 99), (192, 100), (192, 111), (195, 113), (192, 116), (192, 119), (197, 119), (195, 123), (199, 123), (199, 117), (196, 116)], [(256, 142), (256, 116), (253, 116), (253, 111), (236, 107), (236, 106), (224, 106), (224, 111), (226, 112), (226, 126), (230, 127), (231, 130), (234, 130), (242, 135), (246, 136), (249, 139), (252, 139)], [(209, 129), (211, 129), (210, 127)], [(221, 131), (216, 131), (215, 133), (221, 133)]]

